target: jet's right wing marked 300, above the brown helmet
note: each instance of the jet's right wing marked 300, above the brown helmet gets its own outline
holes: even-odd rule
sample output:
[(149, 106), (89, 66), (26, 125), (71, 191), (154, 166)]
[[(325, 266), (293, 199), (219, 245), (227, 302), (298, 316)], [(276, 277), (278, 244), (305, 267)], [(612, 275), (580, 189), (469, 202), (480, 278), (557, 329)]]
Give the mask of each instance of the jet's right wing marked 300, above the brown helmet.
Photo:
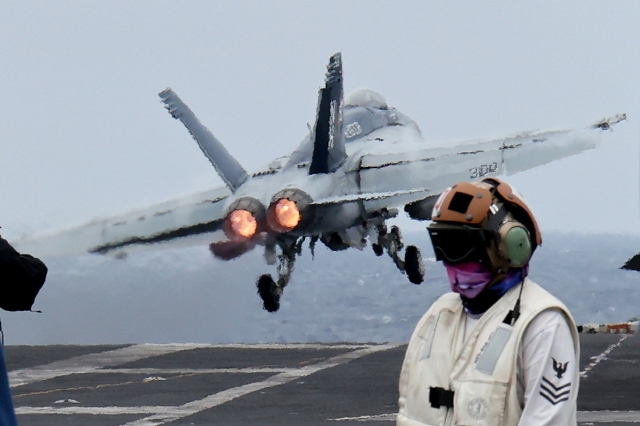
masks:
[(434, 195), (455, 182), (511, 175), (579, 154), (595, 148), (600, 133), (624, 119), (623, 114), (582, 129), (533, 131), (451, 147), (364, 155), (360, 161), (361, 192), (397, 192), (397, 196), (365, 199), (365, 209), (375, 211), (420, 200), (421, 191), (408, 193), (414, 189), (428, 189), (429, 195)]

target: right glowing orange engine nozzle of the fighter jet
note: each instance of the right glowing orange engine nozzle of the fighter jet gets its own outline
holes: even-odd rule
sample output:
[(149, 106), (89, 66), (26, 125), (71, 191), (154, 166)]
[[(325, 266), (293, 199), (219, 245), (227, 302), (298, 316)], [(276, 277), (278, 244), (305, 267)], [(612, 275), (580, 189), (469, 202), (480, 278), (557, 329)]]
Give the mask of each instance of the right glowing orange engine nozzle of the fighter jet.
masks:
[(313, 200), (299, 189), (283, 189), (273, 196), (267, 210), (267, 224), (277, 233), (291, 232), (312, 219)]

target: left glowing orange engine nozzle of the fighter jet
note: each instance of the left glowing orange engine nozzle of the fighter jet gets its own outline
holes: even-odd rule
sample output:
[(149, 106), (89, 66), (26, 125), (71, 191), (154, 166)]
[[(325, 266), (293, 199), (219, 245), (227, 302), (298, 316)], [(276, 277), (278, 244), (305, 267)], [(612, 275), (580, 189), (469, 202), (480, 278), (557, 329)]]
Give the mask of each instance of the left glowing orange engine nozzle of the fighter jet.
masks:
[(264, 218), (264, 206), (255, 198), (242, 197), (229, 206), (223, 229), (231, 241), (251, 239), (260, 232), (260, 220)]

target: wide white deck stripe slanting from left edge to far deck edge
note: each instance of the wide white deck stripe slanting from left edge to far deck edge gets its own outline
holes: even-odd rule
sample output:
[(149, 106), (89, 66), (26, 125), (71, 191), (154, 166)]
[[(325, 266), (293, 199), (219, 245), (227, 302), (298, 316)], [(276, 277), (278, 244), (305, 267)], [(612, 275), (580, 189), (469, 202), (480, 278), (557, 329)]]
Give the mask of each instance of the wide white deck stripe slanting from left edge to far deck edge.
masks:
[(67, 376), (69, 374), (92, 373), (106, 367), (126, 364), (153, 356), (208, 347), (198, 344), (152, 345), (142, 344), (114, 349), (112, 351), (80, 355), (50, 364), (9, 372), (9, 383), (12, 388), (29, 383)]

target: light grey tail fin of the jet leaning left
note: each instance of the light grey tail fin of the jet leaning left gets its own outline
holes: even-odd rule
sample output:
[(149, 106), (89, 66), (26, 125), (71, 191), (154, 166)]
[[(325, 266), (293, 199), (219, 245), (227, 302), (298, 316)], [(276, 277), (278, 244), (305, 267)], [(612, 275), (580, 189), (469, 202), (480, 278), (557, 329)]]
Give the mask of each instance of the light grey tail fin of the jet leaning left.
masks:
[(171, 116), (182, 121), (182, 124), (189, 130), (193, 139), (198, 143), (204, 155), (211, 161), (213, 167), (227, 184), (231, 192), (235, 192), (243, 183), (247, 181), (249, 175), (242, 168), (240, 163), (229, 154), (224, 145), (216, 139), (188, 106), (167, 88), (158, 94), (169, 110)]

